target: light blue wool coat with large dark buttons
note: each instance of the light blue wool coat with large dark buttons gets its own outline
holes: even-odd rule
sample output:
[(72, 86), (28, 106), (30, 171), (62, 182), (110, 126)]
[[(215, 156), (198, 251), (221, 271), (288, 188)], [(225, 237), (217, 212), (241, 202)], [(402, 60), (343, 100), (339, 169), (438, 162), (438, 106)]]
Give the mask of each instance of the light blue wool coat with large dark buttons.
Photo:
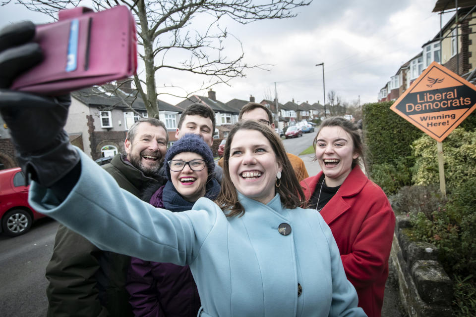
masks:
[[(239, 194), (242, 217), (227, 218), (209, 199), (172, 213), (141, 201), (84, 153), (66, 200), (33, 182), (29, 201), (99, 248), (190, 266), (202, 317), (365, 316), (347, 280), (332, 232), (311, 209), (267, 205)], [(282, 235), (287, 223), (292, 232)], [(297, 296), (297, 283), (302, 294)]]

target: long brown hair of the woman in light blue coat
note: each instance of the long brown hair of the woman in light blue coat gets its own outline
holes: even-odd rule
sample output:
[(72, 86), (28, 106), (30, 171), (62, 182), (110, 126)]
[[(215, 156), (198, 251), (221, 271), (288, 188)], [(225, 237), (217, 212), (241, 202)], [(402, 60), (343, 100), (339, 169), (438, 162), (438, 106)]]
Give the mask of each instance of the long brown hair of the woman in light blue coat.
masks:
[(233, 137), (239, 130), (259, 131), (264, 137), (266, 137), (266, 139), (268, 139), (274, 154), (276, 155), (276, 161), (283, 167), (280, 179), (281, 183), (279, 187), (275, 186), (276, 192), (281, 196), (281, 204), (289, 209), (300, 207), (304, 201), (304, 192), (299, 185), (299, 181), (297, 181), (293, 166), (288, 159), (288, 155), (286, 154), (281, 139), (267, 125), (255, 120), (247, 120), (237, 123), (227, 137), (225, 150), (223, 152), (224, 164), (222, 188), (216, 199), (218, 206), (227, 213), (227, 217), (242, 216), (244, 214), (243, 206), (241, 206), (238, 201), (237, 190), (230, 178), (230, 169), (228, 166), (230, 161), (230, 146)]

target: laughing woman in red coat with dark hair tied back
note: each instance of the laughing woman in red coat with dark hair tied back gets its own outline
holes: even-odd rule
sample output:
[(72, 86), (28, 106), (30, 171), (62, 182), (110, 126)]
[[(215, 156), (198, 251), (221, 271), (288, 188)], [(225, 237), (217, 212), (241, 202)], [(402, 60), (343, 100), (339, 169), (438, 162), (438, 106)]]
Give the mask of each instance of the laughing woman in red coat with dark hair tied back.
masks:
[(334, 117), (322, 122), (314, 138), (322, 172), (301, 181), (308, 208), (330, 226), (358, 306), (380, 317), (395, 215), (383, 190), (361, 171), (363, 143), (357, 126)]

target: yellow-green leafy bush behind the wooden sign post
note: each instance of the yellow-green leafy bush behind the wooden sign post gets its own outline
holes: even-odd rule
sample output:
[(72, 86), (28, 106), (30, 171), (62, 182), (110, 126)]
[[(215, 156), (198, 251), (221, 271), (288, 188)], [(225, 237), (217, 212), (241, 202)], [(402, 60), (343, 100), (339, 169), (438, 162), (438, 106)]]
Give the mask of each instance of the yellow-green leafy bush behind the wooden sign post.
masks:
[[(439, 183), (436, 141), (424, 135), (412, 148), (416, 157), (413, 181), (418, 185)], [(443, 140), (446, 187), (453, 188), (476, 180), (476, 132), (455, 129)], [(451, 190), (449, 190), (451, 191)]]

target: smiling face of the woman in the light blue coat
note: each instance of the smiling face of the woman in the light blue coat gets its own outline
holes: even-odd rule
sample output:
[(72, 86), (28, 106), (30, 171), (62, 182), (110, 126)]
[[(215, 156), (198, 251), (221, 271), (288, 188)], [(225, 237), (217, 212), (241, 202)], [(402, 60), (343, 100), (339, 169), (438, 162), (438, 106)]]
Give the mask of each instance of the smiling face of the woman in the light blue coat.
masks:
[(239, 130), (230, 145), (230, 179), (248, 198), (267, 204), (275, 196), (281, 165), (268, 139), (256, 130)]

